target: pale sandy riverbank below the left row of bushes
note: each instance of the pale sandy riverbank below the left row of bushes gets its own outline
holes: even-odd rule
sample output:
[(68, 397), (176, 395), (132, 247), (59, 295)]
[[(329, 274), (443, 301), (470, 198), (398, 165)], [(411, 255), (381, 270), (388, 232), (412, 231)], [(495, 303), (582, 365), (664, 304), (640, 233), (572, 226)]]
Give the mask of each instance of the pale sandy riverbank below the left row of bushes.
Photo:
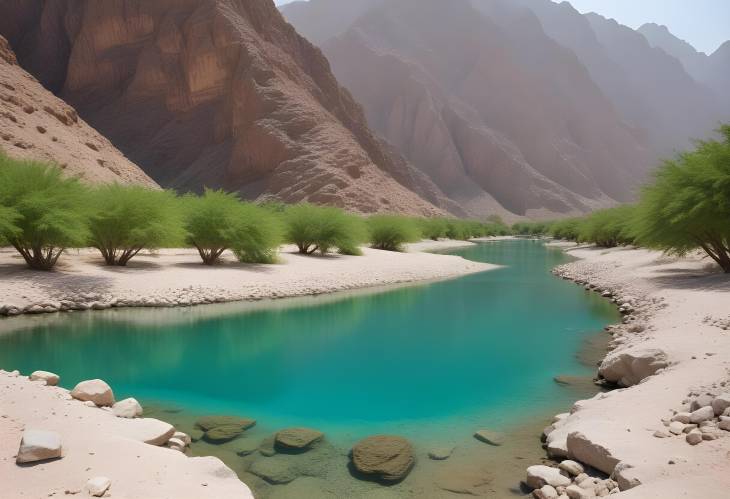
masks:
[(285, 246), (275, 265), (238, 263), (224, 254), (219, 266), (202, 265), (195, 250), (143, 252), (127, 267), (108, 267), (93, 249), (71, 250), (53, 272), (26, 268), (10, 248), (0, 249), (0, 315), (178, 307), (266, 298), (319, 295), (374, 286), (448, 279), (494, 268), (427, 251), (471, 246), (465, 241), (423, 241), (408, 252), (363, 248), (363, 256), (304, 256)]

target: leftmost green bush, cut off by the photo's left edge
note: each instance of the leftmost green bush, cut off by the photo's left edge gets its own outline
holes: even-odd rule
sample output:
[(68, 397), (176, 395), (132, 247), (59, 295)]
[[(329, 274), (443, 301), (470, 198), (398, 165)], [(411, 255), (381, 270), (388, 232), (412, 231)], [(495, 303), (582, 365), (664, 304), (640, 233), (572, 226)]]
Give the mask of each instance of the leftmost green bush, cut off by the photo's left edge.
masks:
[(65, 248), (88, 237), (87, 190), (55, 166), (0, 153), (0, 206), (8, 217), (0, 239), (33, 269), (52, 269)]

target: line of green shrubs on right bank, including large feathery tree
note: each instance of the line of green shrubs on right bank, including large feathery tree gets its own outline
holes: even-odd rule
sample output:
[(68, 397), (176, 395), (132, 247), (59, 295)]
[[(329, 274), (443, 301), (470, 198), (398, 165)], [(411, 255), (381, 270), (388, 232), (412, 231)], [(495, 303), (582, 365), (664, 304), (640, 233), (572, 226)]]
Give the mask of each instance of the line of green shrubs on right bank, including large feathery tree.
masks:
[(718, 131), (721, 140), (699, 141), (664, 161), (635, 204), (513, 229), (609, 248), (638, 245), (675, 255), (701, 249), (730, 273), (730, 125)]

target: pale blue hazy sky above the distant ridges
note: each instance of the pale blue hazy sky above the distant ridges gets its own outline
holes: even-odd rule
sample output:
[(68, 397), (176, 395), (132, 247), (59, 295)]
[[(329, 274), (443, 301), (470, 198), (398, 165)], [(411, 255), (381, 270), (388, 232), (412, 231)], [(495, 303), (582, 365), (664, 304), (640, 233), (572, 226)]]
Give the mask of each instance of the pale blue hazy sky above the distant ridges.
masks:
[[(276, 0), (276, 4), (290, 1)], [(647, 22), (664, 24), (672, 33), (687, 40), (701, 52), (712, 53), (723, 42), (730, 40), (730, 0), (569, 1), (581, 12), (598, 12), (632, 28)]]

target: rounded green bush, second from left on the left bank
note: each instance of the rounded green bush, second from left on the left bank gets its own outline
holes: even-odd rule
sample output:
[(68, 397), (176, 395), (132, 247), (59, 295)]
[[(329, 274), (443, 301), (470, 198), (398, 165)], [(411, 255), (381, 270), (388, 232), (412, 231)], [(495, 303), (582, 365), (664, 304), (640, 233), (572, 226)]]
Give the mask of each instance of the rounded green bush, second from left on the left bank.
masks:
[(183, 240), (177, 199), (170, 191), (119, 184), (91, 193), (91, 246), (107, 265), (125, 266), (140, 250), (177, 246)]

